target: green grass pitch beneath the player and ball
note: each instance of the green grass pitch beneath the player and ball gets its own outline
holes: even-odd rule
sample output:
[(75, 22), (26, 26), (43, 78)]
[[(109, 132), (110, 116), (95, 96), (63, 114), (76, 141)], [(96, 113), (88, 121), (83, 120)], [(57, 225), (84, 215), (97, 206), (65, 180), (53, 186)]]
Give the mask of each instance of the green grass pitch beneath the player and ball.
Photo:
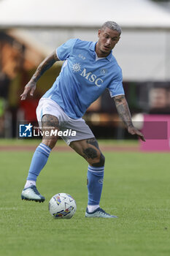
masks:
[[(118, 219), (86, 219), (87, 163), (74, 152), (52, 152), (37, 187), (45, 203), (20, 199), (32, 151), (0, 152), (0, 255), (170, 255), (169, 154), (104, 152), (101, 207)], [(77, 202), (72, 219), (53, 219), (50, 198)]]

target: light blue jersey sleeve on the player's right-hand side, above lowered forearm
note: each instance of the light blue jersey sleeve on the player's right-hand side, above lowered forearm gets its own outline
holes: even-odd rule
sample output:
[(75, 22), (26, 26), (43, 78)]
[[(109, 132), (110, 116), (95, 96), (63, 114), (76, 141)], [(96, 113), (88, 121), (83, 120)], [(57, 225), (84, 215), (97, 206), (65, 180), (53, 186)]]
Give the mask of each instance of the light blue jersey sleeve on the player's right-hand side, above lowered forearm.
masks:
[(121, 69), (119, 69), (119, 71), (117, 72), (117, 76), (112, 79), (111, 83), (109, 83), (107, 89), (109, 89), (109, 94), (111, 97), (125, 94), (125, 91), (123, 89), (123, 75)]

